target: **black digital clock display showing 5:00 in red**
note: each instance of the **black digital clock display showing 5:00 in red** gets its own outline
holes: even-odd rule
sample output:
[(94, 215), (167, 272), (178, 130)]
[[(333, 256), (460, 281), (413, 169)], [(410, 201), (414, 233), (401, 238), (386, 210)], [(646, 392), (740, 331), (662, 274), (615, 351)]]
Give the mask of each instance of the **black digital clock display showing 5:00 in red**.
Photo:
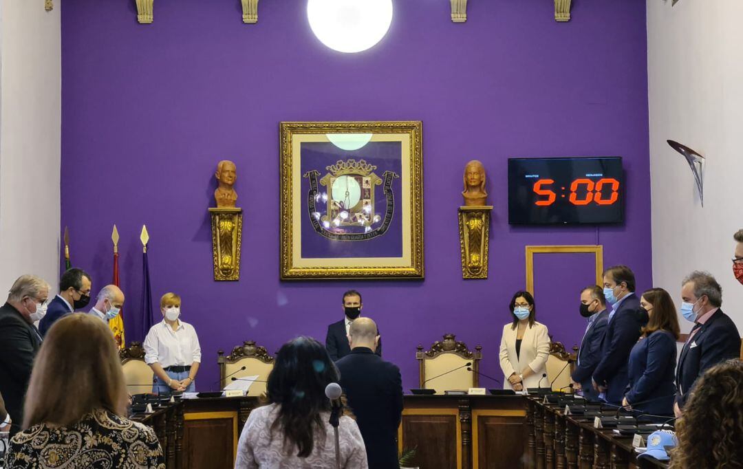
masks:
[(622, 158), (510, 158), (510, 224), (620, 223)]

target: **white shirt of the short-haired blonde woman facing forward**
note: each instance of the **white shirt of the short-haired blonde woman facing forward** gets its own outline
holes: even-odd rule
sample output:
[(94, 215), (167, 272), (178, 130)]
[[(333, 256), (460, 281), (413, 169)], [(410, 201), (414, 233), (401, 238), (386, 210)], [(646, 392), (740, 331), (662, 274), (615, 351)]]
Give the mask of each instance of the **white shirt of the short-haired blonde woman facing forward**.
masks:
[(160, 366), (167, 368), (201, 363), (201, 346), (196, 329), (181, 320), (178, 320), (178, 329), (175, 331), (164, 319), (152, 326), (143, 346), (144, 360), (148, 365), (158, 362)]

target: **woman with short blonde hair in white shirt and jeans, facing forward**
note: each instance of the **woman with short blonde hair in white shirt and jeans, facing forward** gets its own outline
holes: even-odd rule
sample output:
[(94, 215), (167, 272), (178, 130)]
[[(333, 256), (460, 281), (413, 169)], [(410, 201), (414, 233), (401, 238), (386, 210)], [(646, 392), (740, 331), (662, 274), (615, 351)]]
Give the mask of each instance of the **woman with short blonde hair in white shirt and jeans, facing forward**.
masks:
[(181, 297), (164, 294), (160, 298), (160, 312), (163, 321), (149, 329), (143, 344), (144, 360), (155, 373), (152, 392), (195, 392), (201, 346), (193, 326), (179, 319)]

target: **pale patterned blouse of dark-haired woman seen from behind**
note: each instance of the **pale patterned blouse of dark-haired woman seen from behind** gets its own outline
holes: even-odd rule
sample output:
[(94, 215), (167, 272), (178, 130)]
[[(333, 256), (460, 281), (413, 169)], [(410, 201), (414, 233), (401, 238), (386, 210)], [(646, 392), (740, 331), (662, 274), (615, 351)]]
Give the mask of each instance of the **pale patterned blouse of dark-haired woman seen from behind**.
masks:
[[(310, 456), (296, 456), (296, 446), (291, 451), (284, 447), (281, 430), (271, 431), (273, 422), (279, 415), (279, 404), (258, 407), (250, 412), (245, 427), (240, 434), (237, 447), (235, 469), (334, 469), (335, 436), (328, 423), (330, 413), (322, 413), (320, 419), (325, 423), (325, 439), (319, 430), (314, 433), (314, 448)], [(340, 418), (338, 425), (340, 439), (340, 467), (345, 469), (368, 469), (366, 448), (356, 421), (350, 417)]]

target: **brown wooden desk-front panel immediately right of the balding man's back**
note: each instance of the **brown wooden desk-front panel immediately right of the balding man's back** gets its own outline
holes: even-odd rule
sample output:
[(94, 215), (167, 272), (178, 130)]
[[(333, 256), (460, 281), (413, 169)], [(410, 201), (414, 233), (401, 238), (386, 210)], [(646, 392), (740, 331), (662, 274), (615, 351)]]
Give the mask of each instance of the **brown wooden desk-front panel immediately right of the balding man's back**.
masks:
[(461, 469), (457, 410), (406, 410), (398, 439), (403, 450), (416, 448), (416, 466), (426, 469)]

